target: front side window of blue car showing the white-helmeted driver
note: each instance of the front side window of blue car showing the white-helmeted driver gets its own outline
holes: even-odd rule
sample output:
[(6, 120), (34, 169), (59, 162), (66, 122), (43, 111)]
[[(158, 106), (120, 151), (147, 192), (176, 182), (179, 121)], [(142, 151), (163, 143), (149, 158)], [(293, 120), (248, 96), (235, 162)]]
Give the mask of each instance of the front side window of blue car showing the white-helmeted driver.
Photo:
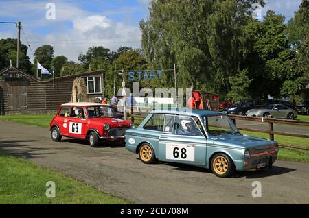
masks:
[(192, 117), (175, 116), (174, 134), (186, 136), (203, 136), (201, 129)]

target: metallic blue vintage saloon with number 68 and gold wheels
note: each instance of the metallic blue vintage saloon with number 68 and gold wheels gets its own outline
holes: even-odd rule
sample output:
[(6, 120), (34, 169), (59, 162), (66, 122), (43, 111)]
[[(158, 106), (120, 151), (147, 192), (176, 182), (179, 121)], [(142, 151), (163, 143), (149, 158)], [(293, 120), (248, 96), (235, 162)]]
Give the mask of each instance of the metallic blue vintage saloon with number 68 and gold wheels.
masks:
[(279, 151), (277, 142), (242, 135), (227, 114), (211, 110), (153, 110), (126, 130), (126, 149), (146, 164), (196, 165), (219, 177), (271, 167)]

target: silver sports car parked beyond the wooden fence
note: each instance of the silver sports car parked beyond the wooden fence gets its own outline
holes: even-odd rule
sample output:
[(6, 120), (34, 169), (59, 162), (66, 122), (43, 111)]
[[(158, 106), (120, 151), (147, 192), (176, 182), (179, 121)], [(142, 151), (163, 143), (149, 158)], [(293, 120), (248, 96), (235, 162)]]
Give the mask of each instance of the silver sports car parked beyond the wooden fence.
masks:
[(248, 117), (274, 117), (282, 119), (295, 119), (297, 112), (288, 106), (282, 104), (265, 104), (256, 109), (248, 110), (246, 113)]

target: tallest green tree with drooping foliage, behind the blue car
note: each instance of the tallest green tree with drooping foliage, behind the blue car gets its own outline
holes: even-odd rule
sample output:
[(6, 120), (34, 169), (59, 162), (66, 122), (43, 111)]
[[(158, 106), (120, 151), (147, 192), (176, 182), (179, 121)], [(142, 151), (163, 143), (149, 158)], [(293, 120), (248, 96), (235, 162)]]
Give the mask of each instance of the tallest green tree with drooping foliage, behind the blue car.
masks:
[[(248, 53), (247, 24), (258, 0), (158, 0), (150, 17), (141, 21), (141, 45), (156, 68), (177, 66), (179, 86), (207, 89), (226, 95), (229, 77), (241, 72)], [(173, 86), (173, 75), (166, 75)]]

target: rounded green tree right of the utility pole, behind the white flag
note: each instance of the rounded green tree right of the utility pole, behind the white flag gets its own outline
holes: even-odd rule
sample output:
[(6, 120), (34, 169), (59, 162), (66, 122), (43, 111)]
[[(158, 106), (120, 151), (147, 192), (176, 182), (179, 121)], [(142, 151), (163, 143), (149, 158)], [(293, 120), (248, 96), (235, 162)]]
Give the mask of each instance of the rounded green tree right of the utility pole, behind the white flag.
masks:
[(52, 60), (54, 58), (54, 47), (52, 45), (42, 45), (34, 51), (33, 71), (36, 72), (37, 62), (52, 73)]

